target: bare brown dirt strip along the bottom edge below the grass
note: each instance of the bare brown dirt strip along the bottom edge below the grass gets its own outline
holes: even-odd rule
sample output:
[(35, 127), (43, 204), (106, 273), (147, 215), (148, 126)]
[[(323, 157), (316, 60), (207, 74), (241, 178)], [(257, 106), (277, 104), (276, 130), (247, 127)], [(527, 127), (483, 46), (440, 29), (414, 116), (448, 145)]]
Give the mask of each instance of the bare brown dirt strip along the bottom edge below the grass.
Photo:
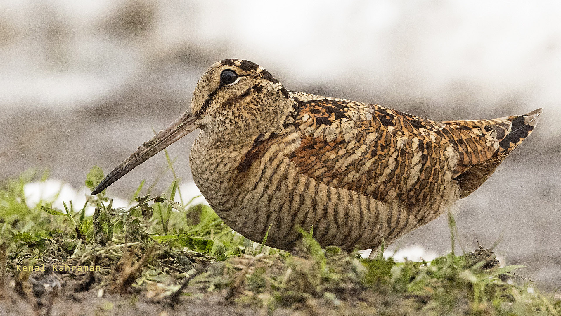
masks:
[[(291, 308), (280, 306), (274, 310), (232, 299), (229, 295), (231, 288), (208, 292), (203, 286), (190, 285), (183, 290), (182, 296), (172, 300), (164, 295), (162, 287), (155, 286), (131, 287), (119, 294), (113, 292), (112, 287), (102, 286), (103, 276), (92, 275), (89, 282), (88, 273), (57, 272), (47, 266), (45, 272), (33, 272), (26, 282), (19, 283), (17, 277), (10, 277), (11, 273), (8, 273), (11, 285), (0, 289), (0, 316), (329, 316), (372, 315), (384, 311), (408, 315), (401, 311), (409, 309), (403, 303), (407, 297), (396, 295), (392, 300), (392, 296), (388, 299), (387, 295), (375, 294), (371, 290), (358, 291), (337, 305), (310, 297), (304, 303), (292, 304)], [(378, 309), (373, 304), (379, 306)]]

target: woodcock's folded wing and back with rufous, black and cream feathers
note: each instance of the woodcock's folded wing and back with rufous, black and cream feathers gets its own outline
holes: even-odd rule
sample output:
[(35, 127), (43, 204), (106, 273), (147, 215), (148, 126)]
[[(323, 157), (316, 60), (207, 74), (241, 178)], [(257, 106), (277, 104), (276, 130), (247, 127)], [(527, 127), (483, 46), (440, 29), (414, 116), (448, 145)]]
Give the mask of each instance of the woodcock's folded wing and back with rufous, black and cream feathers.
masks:
[(291, 96), (301, 146), (289, 157), (301, 173), (379, 201), (425, 204), (454, 194), (458, 166), (489, 159), (499, 147), (492, 128), (301, 92)]

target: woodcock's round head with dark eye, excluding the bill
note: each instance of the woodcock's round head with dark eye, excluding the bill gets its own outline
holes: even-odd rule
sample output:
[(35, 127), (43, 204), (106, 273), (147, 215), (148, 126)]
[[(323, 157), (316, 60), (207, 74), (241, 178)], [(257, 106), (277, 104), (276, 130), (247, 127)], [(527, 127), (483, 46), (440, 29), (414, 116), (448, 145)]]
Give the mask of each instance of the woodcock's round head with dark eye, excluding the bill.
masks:
[(227, 59), (216, 62), (201, 76), (191, 115), (204, 133), (228, 141), (278, 133), (293, 114), (288, 91), (254, 62)]

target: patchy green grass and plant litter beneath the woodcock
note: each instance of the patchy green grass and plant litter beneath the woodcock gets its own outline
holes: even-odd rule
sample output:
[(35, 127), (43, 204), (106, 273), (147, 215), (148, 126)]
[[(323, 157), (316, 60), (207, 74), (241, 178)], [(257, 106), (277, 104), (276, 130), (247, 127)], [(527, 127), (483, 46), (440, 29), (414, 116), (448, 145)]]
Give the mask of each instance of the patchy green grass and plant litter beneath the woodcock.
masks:
[[(521, 266), (486, 269), (494, 260), (489, 251), (453, 251), (430, 262), (398, 263), (384, 259), (383, 251), (370, 260), (337, 247), (321, 249), (302, 232), (298, 255), (290, 255), (233, 233), (209, 206), (174, 202), (181, 196), (177, 179), (165, 194), (136, 196), (127, 208), (114, 208), (102, 192), (89, 198), (96, 209), (86, 216), (86, 205), (70, 201), (65, 210), (27, 206), (23, 187), (33, 178), (25, 173), (0, 189), (0, 244), (7, 248), (5, 272), (15, 287), (24, 288), (29, 276), (16, 272), (17, 265), (58, 263), (101, 267), (95, 282), (80, 275), (85, 290), (165, 300), (190, 281), (186, 294), (204, 299), (219, 293), (264, 314), (278, 308), (326, 315), (344, 310), (365, 315), (561, 313), (553, 295), (513, 276)], [(102, 178), (102, 170), (94, 167), (85, 184), (93, 188)], [(452, 215), (449, 222), (453, 240)]]

